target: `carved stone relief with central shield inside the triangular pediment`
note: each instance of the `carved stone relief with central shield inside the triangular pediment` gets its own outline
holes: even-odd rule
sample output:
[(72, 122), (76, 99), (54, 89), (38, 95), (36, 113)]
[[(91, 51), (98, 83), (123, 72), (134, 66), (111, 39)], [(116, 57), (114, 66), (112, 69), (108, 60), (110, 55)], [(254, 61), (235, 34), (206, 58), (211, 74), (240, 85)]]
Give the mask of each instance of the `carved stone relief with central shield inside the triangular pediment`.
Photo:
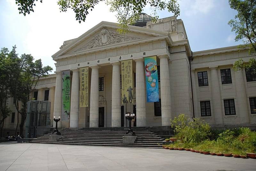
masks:
[(97, 34), (91, 41), (76, 49), (74, 52), (137, 39), (140, 39), (140, 37), (121, 35), (108, 31), (107, 29), (102, 29), (100, 34)]

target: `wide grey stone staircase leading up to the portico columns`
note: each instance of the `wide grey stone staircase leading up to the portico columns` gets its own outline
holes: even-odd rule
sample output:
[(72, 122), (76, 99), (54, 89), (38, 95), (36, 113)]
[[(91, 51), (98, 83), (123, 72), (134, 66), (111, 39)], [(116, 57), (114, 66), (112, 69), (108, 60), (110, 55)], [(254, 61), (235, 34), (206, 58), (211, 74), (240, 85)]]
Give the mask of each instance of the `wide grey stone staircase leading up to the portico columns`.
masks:
[(49, 141), (49, 135), (33, 138), (30, 143), (61, 145), (92, 145), (136, 148), (162, 148), (164, 138), (152, 132), (148, 127), (133, 127), (138, 136), (132, 144), (123, 143), (123, 136), (128, 128), (63, 128), (59, 130), (62, 137), (59, 141)]

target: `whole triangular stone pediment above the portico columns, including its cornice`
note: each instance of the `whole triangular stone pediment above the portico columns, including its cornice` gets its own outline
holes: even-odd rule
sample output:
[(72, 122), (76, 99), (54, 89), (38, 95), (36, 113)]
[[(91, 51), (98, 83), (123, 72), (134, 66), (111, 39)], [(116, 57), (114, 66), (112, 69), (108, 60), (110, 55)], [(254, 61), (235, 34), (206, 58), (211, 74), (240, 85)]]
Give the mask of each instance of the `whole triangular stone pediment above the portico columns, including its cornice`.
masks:
[(117, 23), (102, 21), (78, 38), (65, 41), (67, 42), (67, 45), (62, 46), (62, 48), (52, 57), (54, 58), (57, 56), (92, 50), (93, 48), (106, 47), (115, 44), (118, 45), (168, 34), (168, 32), (155, 31), (137, 26), (129, 26), (128, 33), (120, 34), (116, 32), (117, 28)]

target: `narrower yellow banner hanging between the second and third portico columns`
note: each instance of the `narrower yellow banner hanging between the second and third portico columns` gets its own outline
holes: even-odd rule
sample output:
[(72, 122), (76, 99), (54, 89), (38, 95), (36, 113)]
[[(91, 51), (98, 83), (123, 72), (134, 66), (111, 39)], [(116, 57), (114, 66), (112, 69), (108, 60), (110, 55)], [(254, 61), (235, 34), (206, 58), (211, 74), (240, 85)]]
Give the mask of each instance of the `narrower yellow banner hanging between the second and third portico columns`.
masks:
[(80, 68), (80, 107), (88, 107), (88, 73), (89, 67)]

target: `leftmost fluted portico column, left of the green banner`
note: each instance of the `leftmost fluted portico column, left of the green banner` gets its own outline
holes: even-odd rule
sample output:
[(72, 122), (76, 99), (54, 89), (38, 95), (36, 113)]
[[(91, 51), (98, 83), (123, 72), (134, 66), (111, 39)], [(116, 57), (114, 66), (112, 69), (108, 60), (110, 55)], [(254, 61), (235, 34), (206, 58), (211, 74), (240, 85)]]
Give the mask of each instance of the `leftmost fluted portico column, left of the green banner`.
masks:
[[(62, 108), (62, 75), (61, 75), (61, 71), (59, 71), (59, 72), (56, 72), (54, 112), (53, 112), (53, 116), (55, 116), (56, 119), (58, 119), (58, 117), (60, 116), (60, 121), (58, 122), (58, 128), (61, 128), (61, 108)], [(53, 127), (55, 127), (55, 124), (56, 123), (53, 122)]]

